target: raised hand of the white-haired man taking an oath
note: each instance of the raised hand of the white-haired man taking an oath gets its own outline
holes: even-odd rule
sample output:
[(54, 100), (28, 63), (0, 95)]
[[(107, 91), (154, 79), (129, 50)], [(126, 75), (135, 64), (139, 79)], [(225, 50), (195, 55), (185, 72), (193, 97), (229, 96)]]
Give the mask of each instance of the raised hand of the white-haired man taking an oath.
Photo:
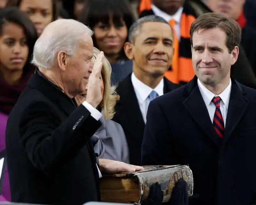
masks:
[(85, 101), (91, 104), (94, 108), (96, 108), (102, 100), (100, 81), (101, 81), (101, 69), (103, 65), (103, 60), (104, 60), (104, 54), (101, 51), (95, 60), (92, 73), (89, 77), (88, 84), (87, 84), (87, 94), (86, 94)]

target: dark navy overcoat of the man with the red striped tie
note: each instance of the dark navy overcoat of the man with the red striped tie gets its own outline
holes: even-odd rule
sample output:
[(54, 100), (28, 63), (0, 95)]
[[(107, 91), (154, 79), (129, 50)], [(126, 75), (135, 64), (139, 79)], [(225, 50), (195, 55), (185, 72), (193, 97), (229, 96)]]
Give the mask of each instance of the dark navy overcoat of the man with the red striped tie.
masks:
[(142, 165), (189, 165), (196, 205), (251, 205), (256, 199), (256, 90), (232, 79), (224, 140), (211, 122), (195, 76), (150, 102)]

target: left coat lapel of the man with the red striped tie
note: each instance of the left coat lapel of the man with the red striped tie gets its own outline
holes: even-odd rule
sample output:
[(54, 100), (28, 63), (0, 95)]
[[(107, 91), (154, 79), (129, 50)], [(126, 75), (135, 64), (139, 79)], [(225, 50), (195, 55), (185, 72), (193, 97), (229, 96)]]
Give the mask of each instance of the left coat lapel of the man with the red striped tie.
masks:
[(185, 85), (184, 97), (186, 97), (186, 99), (183, 102), (183, 105), (188, 110), (189, 114), (205, 132), (207, 137), (209, 137), (211, 141), (219, 147), (222, 140), (217, 136), (214, 130), (207, 107), (198, 88), (196, 76), (187, 85)]

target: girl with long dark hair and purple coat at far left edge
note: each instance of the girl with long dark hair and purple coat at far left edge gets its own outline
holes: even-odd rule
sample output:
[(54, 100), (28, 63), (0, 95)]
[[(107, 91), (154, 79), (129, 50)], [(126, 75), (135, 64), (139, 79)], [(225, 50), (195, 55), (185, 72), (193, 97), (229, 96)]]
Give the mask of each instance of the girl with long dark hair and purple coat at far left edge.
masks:
[[(36, 39), (36, 28), (26, 13), (16, 7), (0, 10), (0, 152), (5, 149), (8, 115), (34, 72), (29, 62)], [(0, 201), (11, 201), (7, 166)]]

